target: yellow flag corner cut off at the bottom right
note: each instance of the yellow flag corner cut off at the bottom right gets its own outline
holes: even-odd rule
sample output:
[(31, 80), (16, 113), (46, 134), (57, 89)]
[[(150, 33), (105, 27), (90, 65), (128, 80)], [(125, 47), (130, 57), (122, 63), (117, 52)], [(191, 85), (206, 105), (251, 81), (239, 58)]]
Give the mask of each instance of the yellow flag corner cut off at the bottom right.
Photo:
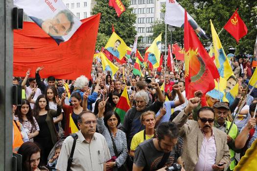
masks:
[(254, 141), (251, 148), (246, 150), (245, 155), (238, 162), (234, 171), (256, 171), (257, 166), (257, 141)]

